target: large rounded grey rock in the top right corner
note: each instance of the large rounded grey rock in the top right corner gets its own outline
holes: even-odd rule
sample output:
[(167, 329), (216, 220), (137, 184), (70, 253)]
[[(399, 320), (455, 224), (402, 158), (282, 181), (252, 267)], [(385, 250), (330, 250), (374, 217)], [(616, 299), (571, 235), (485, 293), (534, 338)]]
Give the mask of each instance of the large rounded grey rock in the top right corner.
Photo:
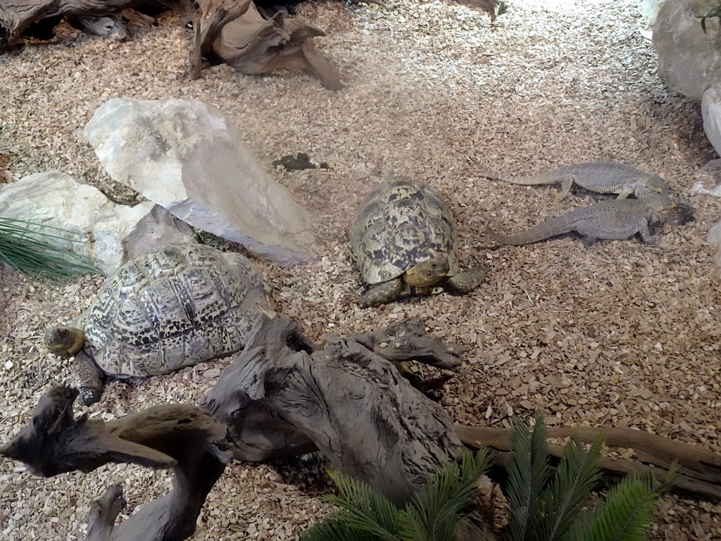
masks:
[(715, 4), (715, 0), (666, 0), (653, 25), (658, 75), (668, 87), (694, 100), (721, 82), (719, 19), (707, 19), (704, 34), (697, 18)]

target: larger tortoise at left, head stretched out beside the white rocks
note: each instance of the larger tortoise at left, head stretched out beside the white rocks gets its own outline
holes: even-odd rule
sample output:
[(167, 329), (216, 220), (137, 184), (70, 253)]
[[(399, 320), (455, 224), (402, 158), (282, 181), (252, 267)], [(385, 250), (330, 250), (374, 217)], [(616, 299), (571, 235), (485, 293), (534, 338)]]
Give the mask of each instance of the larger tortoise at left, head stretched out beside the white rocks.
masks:
[(75, 357), (87, 405), (105, 376), (151, 376), (240, 351), (261, 314), (274, 317), (265, 275), (244, 255), (207, 245), (167, 245), (121, 266), (83, 314), (50, 327), (45, 345)]

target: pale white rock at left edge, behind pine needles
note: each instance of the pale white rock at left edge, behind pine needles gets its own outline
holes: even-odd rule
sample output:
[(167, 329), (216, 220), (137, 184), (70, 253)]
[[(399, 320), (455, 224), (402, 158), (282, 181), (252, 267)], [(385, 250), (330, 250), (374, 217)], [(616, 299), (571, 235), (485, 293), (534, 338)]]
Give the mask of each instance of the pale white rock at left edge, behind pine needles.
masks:
[[(68, 250), (94, 258), (97, 267), (106, 274), (115, 272), (127, 260), (128, 238), (133, 250), (138, 250), (138, 246), (151, 250), (181, 239), (192, 241), (187, 236), (178, 237), (170, 226), (162, 232), (147, 226), (139, 228), (152, 219), (154, 206), (150, 201), (134, 207), (116, 205), (96, 188), (79, 184), (60, 171), (27, 175), (0, 191), (2, 216), (60, 227), (79, 235), (87, 242), (68, 242)], [(148, 234), (149, 229), (153, 234)]]

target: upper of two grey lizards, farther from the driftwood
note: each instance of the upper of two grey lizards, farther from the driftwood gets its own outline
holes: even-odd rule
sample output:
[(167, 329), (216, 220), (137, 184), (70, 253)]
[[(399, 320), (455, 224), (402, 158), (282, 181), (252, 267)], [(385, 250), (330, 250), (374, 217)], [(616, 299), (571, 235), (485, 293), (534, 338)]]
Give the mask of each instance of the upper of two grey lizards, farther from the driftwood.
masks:
[(484, 175), (495, 180), (525, 186), (560, 182), (561, 191), (556, 196), (555, 203), (562, 201), (570, 193), (571, 186), (574, 184), (597, 193), (616, 193), (618, 199), (625, 199), (631, 194), (642, 198), (668, 193), (668, 185), (663, 178), (619, 162), (585, 162), (562, 165), (539, 173), (539, 175), (516, 177), (495, 172), (485, 165), (479, 164), (477, 160), (473, 158), (471, 160)]

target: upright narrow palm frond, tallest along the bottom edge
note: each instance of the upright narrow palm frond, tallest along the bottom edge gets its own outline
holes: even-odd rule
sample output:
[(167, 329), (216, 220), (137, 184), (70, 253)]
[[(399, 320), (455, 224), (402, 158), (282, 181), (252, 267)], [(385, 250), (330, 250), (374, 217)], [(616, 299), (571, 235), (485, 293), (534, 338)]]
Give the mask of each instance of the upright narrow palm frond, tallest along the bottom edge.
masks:
[(511, 443), (506, 494), (508, 527), (504, 537), (507, 541), (526, 541), (539, 532), (541, 491), (550, 475), (546, 424), (536, 418), (529, 432), (522, 421), (514, 419)]

